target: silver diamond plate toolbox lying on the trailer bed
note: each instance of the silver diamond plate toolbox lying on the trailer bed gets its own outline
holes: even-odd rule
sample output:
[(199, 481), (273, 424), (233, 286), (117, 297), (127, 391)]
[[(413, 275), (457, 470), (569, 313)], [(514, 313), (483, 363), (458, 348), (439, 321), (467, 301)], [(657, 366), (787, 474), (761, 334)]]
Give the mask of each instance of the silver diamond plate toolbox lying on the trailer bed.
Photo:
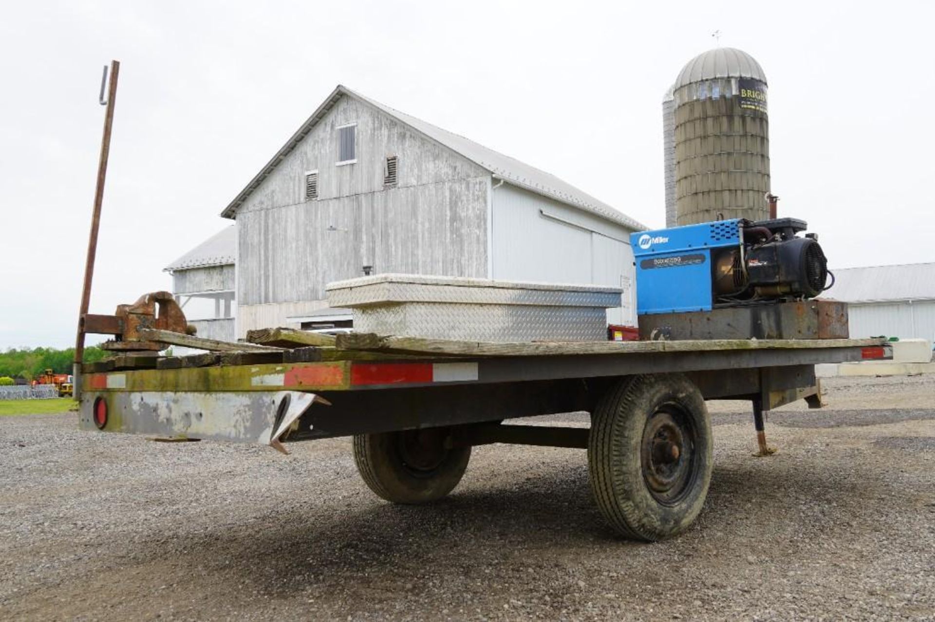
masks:
[(377, 275), (330, 283), (328, 304), (357, 332), (462, 341), (603, 341), (621, 290), (451, 276)]

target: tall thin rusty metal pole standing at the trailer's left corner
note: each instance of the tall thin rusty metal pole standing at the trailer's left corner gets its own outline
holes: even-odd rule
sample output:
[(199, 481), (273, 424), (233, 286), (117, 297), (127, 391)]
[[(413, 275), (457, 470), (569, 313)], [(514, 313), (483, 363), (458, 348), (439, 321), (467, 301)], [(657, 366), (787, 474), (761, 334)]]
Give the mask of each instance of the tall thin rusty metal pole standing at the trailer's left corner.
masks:
[(104, 202), (104, 180), (108, 175), (108, 156), (110, 155), (110, 128), (114, 120), (114, 106), (117, 104), (117, 77), (120, 62), (110, 61), (110, 84), (108, 98), (104, 101), (104, 83), (107, 80), (107, 67), (101, 78), (100, 103), (107, 106), (104, 114), (104, 136), (101, 138), (101, 155), (97, 161), (97, 185), (94, 188), (94, 210), (91, 215), (91, 233), (88, 236), (88, 257), (84, 263), (84, 287), (81, 290), (81, 307), (78, 312), (78, 337), (75, 340), (74, 396), (81, 396), (81, 362), (84, 359), (84, 316), (91, 304), (91, 281), (94, 278), (94, 257), (97, 255), (97, 230), (101, 224), (101, 204)]

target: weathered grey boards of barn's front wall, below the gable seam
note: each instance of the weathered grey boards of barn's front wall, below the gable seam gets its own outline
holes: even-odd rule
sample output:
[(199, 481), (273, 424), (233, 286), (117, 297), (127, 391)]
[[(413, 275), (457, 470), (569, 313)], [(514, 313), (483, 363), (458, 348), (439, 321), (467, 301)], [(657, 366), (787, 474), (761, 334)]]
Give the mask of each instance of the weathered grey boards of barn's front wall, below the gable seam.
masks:
[(362, 276), (365, 265), (486, 276), (486, 187), (466, 179), (243, 214), (239, 302), (322, 300), (327, 283)]

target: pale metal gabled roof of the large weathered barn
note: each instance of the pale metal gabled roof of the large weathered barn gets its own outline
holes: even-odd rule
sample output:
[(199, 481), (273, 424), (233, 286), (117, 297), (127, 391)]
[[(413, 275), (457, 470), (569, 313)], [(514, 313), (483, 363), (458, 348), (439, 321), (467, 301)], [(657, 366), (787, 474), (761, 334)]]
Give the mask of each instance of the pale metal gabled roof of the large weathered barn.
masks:
[(587, 194), (583, 191), (578, 190), (571, 184), (562, 181), (558, 177), (545, 171), (541, 171), (534, 166), (529, 164), (522, 163), (518, 160), (511, 158), (510, 156), (505, 156), (502, 153), (483, 147), (475, 143), (474, 141), (465, 138), (464, 136), (453, 134), (447, 130), (443, 130), (440, 127), (427, 123), (424, 120), (416, 119), (410, 115), (400, 112), (389, 106), (384, 106), (383, 104), (376, 102), (364, 95), (361, 95), (357, 92), (353, 92), (347, 87), (338, 85), (338, 88), (324, 101), (322, 106), (319, 106), (318, 110), (309, 117), (309, 120), (306, 120), (302, 124), (302, 127), (299, 128), (298, 132), (293, 134), (293, 137), (289, 139), (288, 142), (280, 149), (280, 151), (273, 157), (269, 163), (266, 164), (264, 169), (256, 176), (253, 177), (250, 184), (247, 185), (243, 191), (237, 195), (237, 198), (231, 202), (230, 205), (227, 205), (224, 208), (221, 215), (224, 218), (234, 218), (235, 213), (237, 212), (237, 207), (242, 204), (248, 196), (254, 191), (263, 180), (269, 176), (270, 173), (276, 168), (276, 166), (281, 163), (283, 158), (292, 151), (304, 138), (309, 134), (311, 129), (318, 123), (319, 120), (324, 118), (324, 115), (327, 114), (337, 102), (340, 97), (348, 96), (353, 97), (359, 101), (362, 101), (370, 106), (381, 110), (381, 112), (390, 115), (396, 120), (399, 120), (406, 125), (409, 125), (410, 128), (415, 130), (420, 134), (424, 134), (429, 139), (443, 145), (444, 147), (452, 149), (455, 153), (460, 154), (462, 157), (467, 158), (473, 163), (476, 163), (483, 168), (490, 171), (495, 177), (502, 178), (507, 182), (525, 188), (528, 191), (533, 191), (543, 196), (550, 197), (559, 201), (561, 203), (571, 205), (573, 207), (578, 207), (584, 211), (591, 212), (603, 219), (608, 219), (618, 224), (621, 224), (628, 229), (635, 231), (641, 231), (647, 227), (640, 222), (629, 218), (622, 212), (618, 211), (611, 205), (607, 205), (601, 201), (598, 201), (596, 198)]

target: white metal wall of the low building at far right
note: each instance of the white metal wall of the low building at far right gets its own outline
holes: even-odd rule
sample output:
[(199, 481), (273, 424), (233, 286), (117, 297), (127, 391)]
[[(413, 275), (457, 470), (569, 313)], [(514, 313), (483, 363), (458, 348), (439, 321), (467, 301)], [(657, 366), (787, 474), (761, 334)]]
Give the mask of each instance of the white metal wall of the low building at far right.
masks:
[(847, 316), (855, 338), (883, 334), (935, 341), (935, 301), (849, 304)]

